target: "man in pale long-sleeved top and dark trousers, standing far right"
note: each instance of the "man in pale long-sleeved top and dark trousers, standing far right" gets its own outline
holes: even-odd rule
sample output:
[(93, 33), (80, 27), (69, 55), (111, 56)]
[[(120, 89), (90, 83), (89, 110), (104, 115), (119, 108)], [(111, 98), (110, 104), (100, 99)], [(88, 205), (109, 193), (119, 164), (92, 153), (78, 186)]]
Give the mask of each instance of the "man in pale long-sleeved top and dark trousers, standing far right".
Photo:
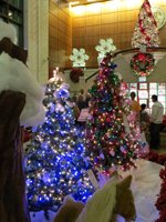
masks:
[(154, 102), (151, 114), (151, 149), (158, 149), (159, 147), (159, 132), (163, 123), (164, 107), (158, 101), (156, 94), (152, 95)]

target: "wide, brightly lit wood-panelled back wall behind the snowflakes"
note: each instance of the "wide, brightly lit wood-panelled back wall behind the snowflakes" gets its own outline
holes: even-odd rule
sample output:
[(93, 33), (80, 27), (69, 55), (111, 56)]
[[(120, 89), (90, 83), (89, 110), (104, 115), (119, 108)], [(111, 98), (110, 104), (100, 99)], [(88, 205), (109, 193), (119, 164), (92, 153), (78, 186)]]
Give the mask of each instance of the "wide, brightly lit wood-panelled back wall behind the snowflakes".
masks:
[[(149, 0), (166, 11), (166, 1)], [(112, 38), (118, 50), (131, 48), (141, 0), (107, 1), (72, 8), (73, 48), (84, 48), (87, 67), (97, 65), (95, 46), (100, 39)], [(162, 46), (166, 46), (166, 26), (159, 30)]]

